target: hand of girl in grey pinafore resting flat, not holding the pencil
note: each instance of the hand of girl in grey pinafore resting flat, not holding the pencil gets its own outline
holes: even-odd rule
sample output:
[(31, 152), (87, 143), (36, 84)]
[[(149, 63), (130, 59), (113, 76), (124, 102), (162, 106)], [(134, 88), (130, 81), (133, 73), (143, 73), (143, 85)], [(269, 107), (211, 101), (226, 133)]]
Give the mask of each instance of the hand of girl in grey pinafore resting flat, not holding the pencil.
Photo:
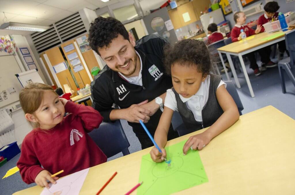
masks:
[(183, 154), (186, 155), (187, 151), (192, 147), (193, 150), (201, 150), (210, 141), (212, 137), (204, 131), (203, 133), (191, 136), (183, 146)]

